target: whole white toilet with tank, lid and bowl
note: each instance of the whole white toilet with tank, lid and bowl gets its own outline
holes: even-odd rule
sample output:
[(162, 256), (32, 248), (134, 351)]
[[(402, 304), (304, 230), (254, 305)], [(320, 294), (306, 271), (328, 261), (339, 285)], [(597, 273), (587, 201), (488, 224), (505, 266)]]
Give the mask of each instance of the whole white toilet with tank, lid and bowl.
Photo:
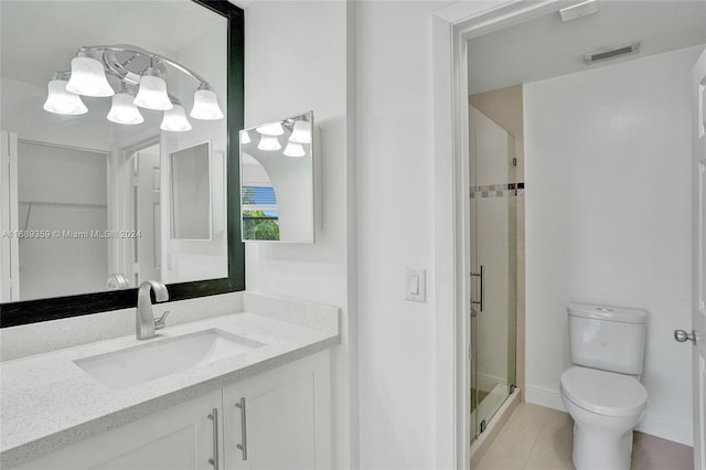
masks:
[(629, 470), (632, 428), (648, 392), (640, 383), (643, 310), (570, 303), (573, 366), (561, 374), (561, 399), (574, 418), (577, 470)]

